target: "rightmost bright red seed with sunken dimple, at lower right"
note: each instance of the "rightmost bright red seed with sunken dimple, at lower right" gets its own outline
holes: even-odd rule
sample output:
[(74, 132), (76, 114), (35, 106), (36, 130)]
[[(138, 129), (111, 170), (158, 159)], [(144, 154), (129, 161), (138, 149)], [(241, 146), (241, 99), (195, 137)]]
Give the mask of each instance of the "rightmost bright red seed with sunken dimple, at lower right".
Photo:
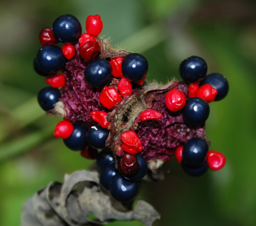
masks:
[(223, 168), (226, 164), (226, 157), (220, 152), (208, 151), (207, 162), (209, 168), (213, 171)]

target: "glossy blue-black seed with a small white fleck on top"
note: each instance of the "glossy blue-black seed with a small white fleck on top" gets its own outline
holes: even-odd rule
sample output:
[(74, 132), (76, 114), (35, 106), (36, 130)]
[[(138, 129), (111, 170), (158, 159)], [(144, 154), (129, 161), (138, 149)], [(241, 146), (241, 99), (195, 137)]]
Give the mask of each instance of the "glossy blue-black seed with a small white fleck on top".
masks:
[(105, 147), (108, 138), (109, 130), (102, 128), (100, 125), (92, 126), (87, 133), (88, 144), (97, 149)]

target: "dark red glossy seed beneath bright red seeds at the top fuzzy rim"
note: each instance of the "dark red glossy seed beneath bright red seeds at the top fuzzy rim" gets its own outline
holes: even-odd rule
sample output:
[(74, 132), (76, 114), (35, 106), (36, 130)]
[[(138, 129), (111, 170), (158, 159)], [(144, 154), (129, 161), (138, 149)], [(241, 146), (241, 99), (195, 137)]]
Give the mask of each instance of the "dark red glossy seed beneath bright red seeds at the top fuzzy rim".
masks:
[(96, 41), (88, 41), (79, 48), (81, 57), (86, 61), (92, 61), (100, 53), (100, 45)]

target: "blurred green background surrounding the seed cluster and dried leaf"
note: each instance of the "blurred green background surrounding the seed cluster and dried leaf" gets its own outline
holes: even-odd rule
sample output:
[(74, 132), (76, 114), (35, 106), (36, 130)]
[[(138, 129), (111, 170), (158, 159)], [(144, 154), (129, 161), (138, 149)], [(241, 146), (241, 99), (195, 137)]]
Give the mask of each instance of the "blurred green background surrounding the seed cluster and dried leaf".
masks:
[(172, 158), (164, 181), (142, 184), (138, 198), (161, 214), (154, 226), (256, 225), (255, 11), (247, 0), (0, 1), (0, 225), (20, 225), (26, 199), (93, 162), (52, 136), (61, 119), (46, 117), (36, 100), (46, 85), (32, 66), (38, 34), (66, 13), (83, 32), (86, 17), (99, 14), (101, 35), (148, 59), (148, 80), (180, 79), (179, 64), (191, 55), (204, 58), (209, 73), (226, 76), (229, 94), (210, 104), (206, 125), (226, 166), (193, 178)]

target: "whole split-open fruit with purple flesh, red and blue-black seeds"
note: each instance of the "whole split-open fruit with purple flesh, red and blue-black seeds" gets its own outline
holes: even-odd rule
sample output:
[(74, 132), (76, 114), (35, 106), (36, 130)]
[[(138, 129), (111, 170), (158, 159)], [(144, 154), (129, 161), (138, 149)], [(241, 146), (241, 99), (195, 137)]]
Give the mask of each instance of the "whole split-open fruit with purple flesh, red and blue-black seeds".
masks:
[(180, 64), (184, 82), (147, 83), (144, 56), (115, 50), (98, 38), (99, 15), (88, 16), (85, 27), (82, 33), (72, 15), (58, 17), (52, 29), (41, 30), (43, 46), (33, 66), (51, 85), (39, 91), (39, 105), (48, 115), (64, 117), (53, 135), (83, 157), (97, 159), (102, 187), (117, 201), (129, 202), (148, 168), (156, 174), (171, 155), (192, 176), (222, 168), (225, 157), (208, 151), (205, 121), (209, 103), (228, 93), (226, 78), (206, 76), (204, 59), (192, 56)]

